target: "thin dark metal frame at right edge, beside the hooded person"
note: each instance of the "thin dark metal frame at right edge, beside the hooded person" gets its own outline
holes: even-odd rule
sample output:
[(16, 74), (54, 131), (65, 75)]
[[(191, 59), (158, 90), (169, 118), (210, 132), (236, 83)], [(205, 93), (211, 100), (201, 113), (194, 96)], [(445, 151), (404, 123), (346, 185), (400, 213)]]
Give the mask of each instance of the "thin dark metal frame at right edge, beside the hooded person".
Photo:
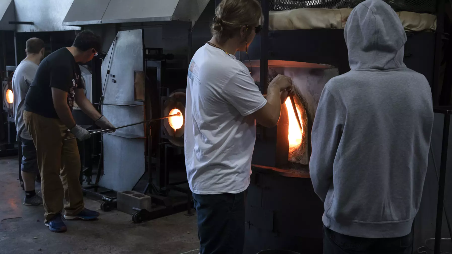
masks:
[(434, 254), (441, 253), (441, 230), (443, 226), (443, 206), (444, 206), (444, 187), (446, 182), (446, 166), (447, 166), (447, 149), (449, 145), (449, 127), (450, 118), (452, 115), (452, 107), (434, 108), (435, 113), (444, 114), (443, 123), (443, 142), (441, 146), (441, 163), (439, 165), (439, 179), (438, 179), (438, 201), (436, 207), (436, 227), (435, 227), (435, 247)]

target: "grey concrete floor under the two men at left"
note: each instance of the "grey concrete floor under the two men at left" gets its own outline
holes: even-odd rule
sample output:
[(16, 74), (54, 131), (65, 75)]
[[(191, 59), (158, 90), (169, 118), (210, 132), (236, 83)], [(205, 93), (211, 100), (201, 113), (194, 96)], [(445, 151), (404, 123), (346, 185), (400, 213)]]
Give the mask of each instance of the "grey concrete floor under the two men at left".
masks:
[(22, 204), (17, 177), (16, 157), (0, 158), (0, 254), (198, 253), (195, 216), (179, 213), (134, 224), (132, 216), (102, 212), (99, 201), (86, 198), (85, 207), (99, 211), (99, 220), (66, 221), (67, 232), (53, 233), (44, 225), (42, 207)]

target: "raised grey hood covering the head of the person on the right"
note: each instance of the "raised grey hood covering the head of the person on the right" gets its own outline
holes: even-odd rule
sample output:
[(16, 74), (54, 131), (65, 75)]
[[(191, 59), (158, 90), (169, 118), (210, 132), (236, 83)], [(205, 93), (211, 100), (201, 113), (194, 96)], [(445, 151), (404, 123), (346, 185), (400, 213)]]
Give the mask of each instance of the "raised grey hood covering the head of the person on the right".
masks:
[(405, 68), (404, 28), (382, 0), (366, 0), (356, 6), (345, 24), (344, 37), (352, 70)]

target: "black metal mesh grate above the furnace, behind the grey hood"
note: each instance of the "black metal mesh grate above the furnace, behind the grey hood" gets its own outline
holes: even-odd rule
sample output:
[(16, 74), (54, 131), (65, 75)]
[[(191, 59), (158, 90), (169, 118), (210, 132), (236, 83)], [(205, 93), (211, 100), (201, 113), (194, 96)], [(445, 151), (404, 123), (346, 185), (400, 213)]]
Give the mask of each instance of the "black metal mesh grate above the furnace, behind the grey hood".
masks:
[[(354, 8), (363, 0), (269, 0), (270, 10), (291, 10), (299, 8)], [(435, 13), (436, 0), (384, 0), (395, 11)]]

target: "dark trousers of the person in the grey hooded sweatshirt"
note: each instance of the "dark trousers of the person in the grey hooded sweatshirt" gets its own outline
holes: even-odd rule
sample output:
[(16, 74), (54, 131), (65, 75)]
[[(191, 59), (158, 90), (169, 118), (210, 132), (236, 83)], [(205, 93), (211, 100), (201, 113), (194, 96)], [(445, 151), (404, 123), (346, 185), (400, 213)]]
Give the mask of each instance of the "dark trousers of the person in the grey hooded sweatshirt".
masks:
[(323, 227), (324, 254), (411, 254), (413, 233), (396, 238), (346, 236)]

